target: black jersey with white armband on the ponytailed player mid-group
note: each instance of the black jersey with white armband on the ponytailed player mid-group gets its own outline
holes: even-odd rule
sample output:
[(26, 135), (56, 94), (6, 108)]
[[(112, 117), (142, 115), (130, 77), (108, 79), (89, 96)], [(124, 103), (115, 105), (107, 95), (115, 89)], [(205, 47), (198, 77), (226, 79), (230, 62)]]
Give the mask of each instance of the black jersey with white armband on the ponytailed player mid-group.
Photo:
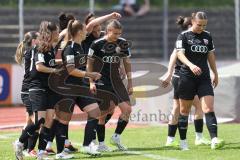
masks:
[[(75, 43), (73, 41), (69, 41), (67, 43), (67, 46), (62, 52), (62, 60), (65, 67), (73, 65), (74, 68), (83, 71), (86, 70), (87, 54), (84, 53), (82, 46), (78, 43)], [(66, 79), (66, 83), (70, 84), (80, 84), (81, 81), (81, 78), (74, 76), (69, 76)]]

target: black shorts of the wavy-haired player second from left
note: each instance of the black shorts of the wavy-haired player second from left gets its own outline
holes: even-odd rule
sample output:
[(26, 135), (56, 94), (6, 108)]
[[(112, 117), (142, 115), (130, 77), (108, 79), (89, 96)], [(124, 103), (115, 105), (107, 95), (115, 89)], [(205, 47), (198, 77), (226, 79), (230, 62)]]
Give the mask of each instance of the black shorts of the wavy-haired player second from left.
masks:
[(29, 99), (32, 104), (32, 110), (46, 111), (54, 109), (55, 105), (62, 99), (62, 96), (50, 89), (29, 89)]

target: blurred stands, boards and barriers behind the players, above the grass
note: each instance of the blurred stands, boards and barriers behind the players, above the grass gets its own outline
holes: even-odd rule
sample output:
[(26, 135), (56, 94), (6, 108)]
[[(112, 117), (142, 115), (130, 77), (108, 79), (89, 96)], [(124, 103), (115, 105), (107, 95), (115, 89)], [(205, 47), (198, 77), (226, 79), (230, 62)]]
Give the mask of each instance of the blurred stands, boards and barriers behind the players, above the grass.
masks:
[[(143, 0), (137, 2), (141, 4)], [(239, 0), (150, 2), (151, 9), (146, 15), (124, 16), (121, 19), (124, 26), (123, 37), (132, 42), (134, 87), (135, 91), (138, 91), (134, 97), (134, 106), (137, 107), (134, 107), (133, 114), (140, 112), (141, 116), (148, 116), (133, 122), (158, 124), (168, 120), (172, 92), (169, 92), (171, 88), (163, 90), (160, 87), (159, 78), (166, 72), (165, 66), (179, 33), (175, 20), (179, 15), (190, 16), (192, 12), (199, 10), (205, 11), (209, 17), (207, 30), (212, 33), (216, 46), (221, 80), (215, 92), (218, 118), (223, 118), (223, 121), (240, 121)], [(118, 0), (1, 0), (0, 112), (7, 113), (10, 109), (16, 109), (13, 113), (18, 115), (12, 117), (19, 117), (24, 122), (24, 108), (19, 108), (23, 70), (15, 64), (13, 57), (25, 32), (38, 30), (42, 20), (58, 22), (60, 12), (74, 13), (83, 20), (89, 12), (101, 16), (118, 11), (113, 9), (118, 3)], [(150, 120), (153, 113), (155, 116)], [(161, 114), (165, 118), (162, 118)], [(0, 115), (2, 128), (9, 126), (5, 126), (6, 123), (9, 124), (5, 122), (6, 119), (11, 119), (11, 115)]]

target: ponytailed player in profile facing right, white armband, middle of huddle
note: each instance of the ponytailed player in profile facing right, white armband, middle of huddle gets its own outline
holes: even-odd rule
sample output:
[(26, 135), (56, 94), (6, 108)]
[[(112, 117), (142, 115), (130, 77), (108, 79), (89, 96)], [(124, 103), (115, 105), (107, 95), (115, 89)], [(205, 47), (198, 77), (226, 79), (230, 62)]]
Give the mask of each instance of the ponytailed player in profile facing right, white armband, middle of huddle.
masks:
[[(80, 64), (81, 59), (84, 62), (85, 54), (81, 47), (82, 41), (86, 38), (86, 26), (78, 20), (71, 20), (67, 27), (67, 34), (64, 38), (62, 59), (69, 77), (66, 79), (67, 85), (81, 86), (82, 90), (86, 91), (83, 95), (68, 96), (72, 99), (73, 103), (70, 108), (73, 108), (77, 104), (80, 109), (88, 114), (88, 127), (85, 128), (85, 135), (89, 138), (84, 140), (83, 146), (89, 154), (99, 154), (99, 152), (93, 150), (89, 145), (93, 138), (93, 130), (97, 126), (97, 118), (100, 115), (100, 110), (97, 102), (94, 100), (94, 96), (90, 93), (87, 84), (83, 83), (84, 77), (93, 78), (97, 80), (101, 77), (101, 74), (96, 72), (86, 72), (84, 63)], [(86, 61), (85, 61), (86, 62)], [(61, 120), (60, 120), (61, 121)]]

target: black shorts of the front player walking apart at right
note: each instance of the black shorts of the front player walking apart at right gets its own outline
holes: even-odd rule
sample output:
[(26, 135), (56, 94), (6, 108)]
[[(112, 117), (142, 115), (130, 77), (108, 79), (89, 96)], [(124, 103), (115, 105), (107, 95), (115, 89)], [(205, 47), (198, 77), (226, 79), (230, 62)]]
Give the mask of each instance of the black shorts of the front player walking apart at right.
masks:
[(214, 96), (210, 78), (192, 78), (184, 75), (179, 79), (179, 98), (193, 100), (195, 95), (199, 99), (204, 96)]

